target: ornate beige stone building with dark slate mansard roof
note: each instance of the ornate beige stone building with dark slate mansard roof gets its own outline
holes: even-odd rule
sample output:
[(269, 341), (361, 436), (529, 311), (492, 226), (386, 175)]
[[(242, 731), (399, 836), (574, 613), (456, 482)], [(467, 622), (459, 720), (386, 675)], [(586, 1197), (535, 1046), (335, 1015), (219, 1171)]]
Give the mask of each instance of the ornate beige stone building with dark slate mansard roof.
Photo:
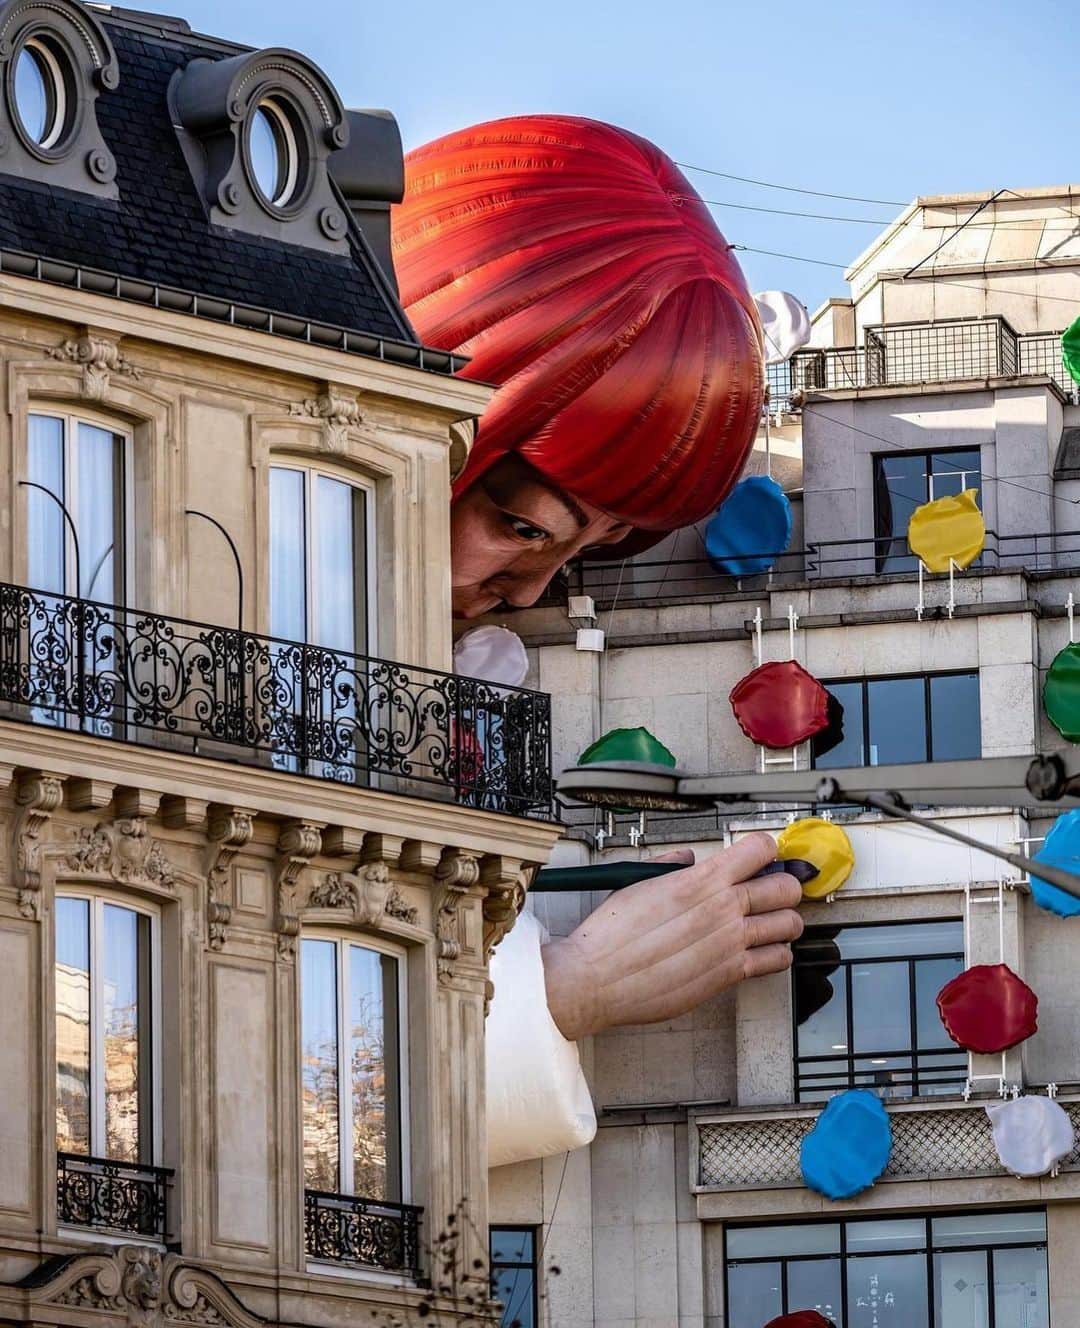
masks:
[(78, 0), (0, 89), (0, 1321), (396, 1323), (452, 1214), (457, 1321), (557, 831), (547, 700), (448, 672), (489, 389), (397, 303), (396, 126)]

